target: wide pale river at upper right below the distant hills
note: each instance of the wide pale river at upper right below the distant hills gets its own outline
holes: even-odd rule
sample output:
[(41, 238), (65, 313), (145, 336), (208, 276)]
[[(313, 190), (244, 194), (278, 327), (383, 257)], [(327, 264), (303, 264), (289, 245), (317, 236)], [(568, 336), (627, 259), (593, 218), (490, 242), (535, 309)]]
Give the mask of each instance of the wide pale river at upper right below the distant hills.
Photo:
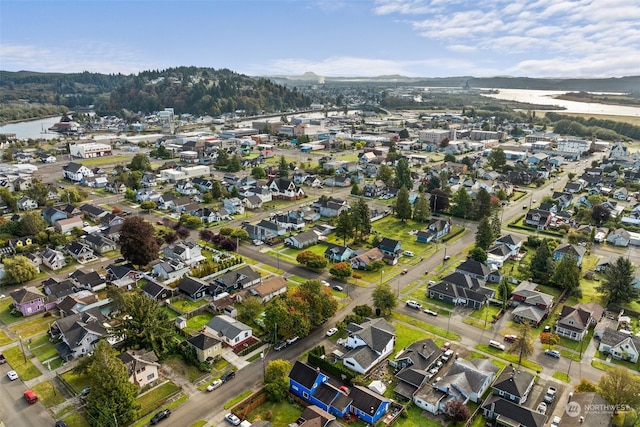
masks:
[(529, 104), (555, 105), (564, 107), (557, 111), (564, 113), (602, 114), (611, 116), (640, 117), (640, 107), (626, 105), (598, 104), (591, 102), (566, 101), (556, 99), (554, 96), (562, 95), (568, 91), (529, 90), (529, 89), (498, 89), (499, 93), (487, 94), (491, 98), (508, 101), (527, 102)]

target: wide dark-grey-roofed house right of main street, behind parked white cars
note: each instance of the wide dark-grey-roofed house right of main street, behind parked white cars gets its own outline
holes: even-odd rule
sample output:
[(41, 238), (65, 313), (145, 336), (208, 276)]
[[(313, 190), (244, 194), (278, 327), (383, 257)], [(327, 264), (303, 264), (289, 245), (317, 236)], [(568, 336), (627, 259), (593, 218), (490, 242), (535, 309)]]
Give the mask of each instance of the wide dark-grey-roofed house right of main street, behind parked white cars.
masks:
[(449, 304), (476, 309), (484, 306), (495, 294), (495, 291), (487, 288), (485, 284), (482, 279), (454, 272), (443, 277), (441, 281), (430, 284), (427, 296)]

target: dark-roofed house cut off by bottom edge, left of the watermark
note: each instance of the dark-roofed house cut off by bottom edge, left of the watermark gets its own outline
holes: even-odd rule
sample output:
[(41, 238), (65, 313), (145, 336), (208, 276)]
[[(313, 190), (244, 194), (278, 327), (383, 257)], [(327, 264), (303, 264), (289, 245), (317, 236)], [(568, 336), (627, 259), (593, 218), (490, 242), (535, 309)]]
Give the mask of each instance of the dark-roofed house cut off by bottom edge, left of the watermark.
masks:
[[(496, 426), (544, 427), (547, 416), (515, 402), (491, 394), (482, 403), (482, 415)], [(563, 418), (564, 419), (564, 418)], [(591, 425), (591, 424), (589, 424)], [(606, 425), (606, 424), (593, 424)]]

